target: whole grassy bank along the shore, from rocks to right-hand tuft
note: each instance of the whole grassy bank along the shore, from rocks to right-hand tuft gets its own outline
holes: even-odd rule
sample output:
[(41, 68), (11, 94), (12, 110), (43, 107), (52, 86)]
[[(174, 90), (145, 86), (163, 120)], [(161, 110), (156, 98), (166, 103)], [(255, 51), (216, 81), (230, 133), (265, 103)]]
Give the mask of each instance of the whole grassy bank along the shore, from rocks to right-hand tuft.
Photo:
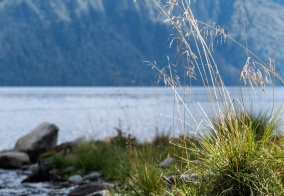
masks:
[[(214, 134), (201, 140), (157, 135), (139, 143), (121, 130), (107, 141), (90, 141), (52, 165), (65, 179), (99, 171), (121, 195), (282, 195), (284, 139), (278, 120), (240, 112), (212, 119)], [(213, 130), (208, 130), (213, 131)], [(173, 158), (171, 164), (162, 165)], [(171, 160), (173, 160), (171, 159)], [(73, 167), (70, 170), (66, 168)]]

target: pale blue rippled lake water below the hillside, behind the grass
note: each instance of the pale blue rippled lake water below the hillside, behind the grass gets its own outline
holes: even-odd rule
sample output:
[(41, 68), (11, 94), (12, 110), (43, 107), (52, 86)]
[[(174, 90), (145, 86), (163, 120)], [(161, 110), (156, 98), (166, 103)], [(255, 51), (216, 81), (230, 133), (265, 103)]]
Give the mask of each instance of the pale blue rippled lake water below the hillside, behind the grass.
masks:
[[(238, 87), (228, 90), (231, 95), (240, 97)], [(210, 103), (203, 88), (192, 88), (188, 95), (179, 92), (187, 100), (194, 118), (201, 120), (203, 110), (210, 115)], [(244, 89), (243, 97), (246, 105), (253, 100), (255, 112), (273, 106), (277, 109), (284, 101), (284, 88), (268, 88), (267, 94), (259, 89), (255, 92)], [(179, 134), (179, 121), (173, 120), (173, 116), (179, 116), (174, 100), (173, 90), (162, 87), (2, 87), (0, 150), (13, 148), (20, 136), (42, 122), (59, 127), (59, 143), (80, 136), (95, 139), (109, 137), (116, 134), (116, 127), (140, 140), (153, 138), (156, 130)], [(184, 110), (180, 111), (183, 116)], [(185, 114), (184, 118), (190, 124), (192, 119), (187, 112)]]

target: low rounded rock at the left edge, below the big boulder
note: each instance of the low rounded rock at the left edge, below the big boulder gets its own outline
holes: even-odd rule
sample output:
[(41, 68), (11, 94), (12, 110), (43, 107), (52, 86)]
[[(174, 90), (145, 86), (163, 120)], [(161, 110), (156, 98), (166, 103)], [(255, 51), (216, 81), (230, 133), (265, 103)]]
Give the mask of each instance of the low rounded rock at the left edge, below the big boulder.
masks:
[(26, 153), (15, 151), (0, 153), (0, 168), (19, 169), (28, 163), (30, 163), (30, 159)]

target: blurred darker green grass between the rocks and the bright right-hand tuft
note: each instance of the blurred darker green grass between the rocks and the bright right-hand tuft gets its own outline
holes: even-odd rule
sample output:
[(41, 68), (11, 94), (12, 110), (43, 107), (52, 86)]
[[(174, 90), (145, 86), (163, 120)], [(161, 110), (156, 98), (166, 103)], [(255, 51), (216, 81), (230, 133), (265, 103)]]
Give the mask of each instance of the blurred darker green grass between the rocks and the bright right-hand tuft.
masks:
[[(167, 156), (174, 156), (174, 148), (165, 134), (157, 135), (153, 142), (138, 143), (121, 131), (110, 141), (92, 141), (72, 151), (52, 158), (52, 165), (62, 176), (83, 175), (99, 171), (109, 181), (117, 182), (122, 191), (136, 195), (158, 194), (166, 188), (163, 172), (156, 164)], [(66, 172), (66, 168), (74, 170)], [(172, 170), (174, 167), (172, 168)]]

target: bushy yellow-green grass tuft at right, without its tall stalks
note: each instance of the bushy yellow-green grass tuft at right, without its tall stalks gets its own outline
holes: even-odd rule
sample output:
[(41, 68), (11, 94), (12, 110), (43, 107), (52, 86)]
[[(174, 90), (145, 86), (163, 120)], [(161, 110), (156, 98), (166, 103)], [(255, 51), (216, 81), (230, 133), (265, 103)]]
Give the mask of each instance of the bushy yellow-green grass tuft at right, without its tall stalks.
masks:
[(187, 148), (193, 155), (185, 159), (188, 172), (199, 174), (199, 184), (176, 190), (193, 195), (284, 194), (284, 140), (276, 137), (277, 115), (245, 114), (214, 120), (214, 136)]

